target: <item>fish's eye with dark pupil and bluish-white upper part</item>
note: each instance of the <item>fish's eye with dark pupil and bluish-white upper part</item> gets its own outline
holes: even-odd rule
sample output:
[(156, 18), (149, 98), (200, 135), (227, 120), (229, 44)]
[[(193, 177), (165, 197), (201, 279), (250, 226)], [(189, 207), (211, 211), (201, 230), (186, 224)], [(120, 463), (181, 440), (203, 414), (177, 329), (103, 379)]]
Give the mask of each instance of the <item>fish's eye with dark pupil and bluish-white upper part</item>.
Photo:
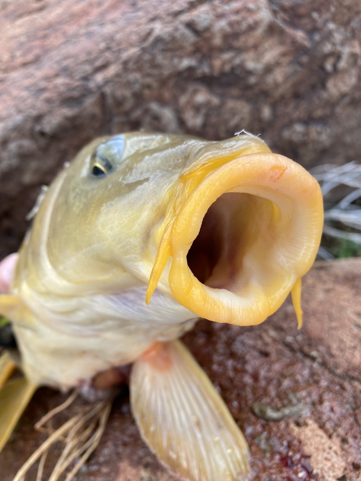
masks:
[(117, 165), (123, 155), (124, 136), (115, 135), (104, 140), (90, 157), (90, 173), (94, 177), (103, 177)]

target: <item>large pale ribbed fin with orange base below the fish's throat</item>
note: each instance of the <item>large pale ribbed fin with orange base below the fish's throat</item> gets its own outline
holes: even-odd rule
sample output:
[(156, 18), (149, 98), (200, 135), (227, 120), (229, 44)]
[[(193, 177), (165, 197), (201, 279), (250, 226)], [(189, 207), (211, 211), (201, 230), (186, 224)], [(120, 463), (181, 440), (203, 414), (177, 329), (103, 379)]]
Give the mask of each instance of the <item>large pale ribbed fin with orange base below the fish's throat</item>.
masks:
[(206, 373), (180, 341), (159, 343), (133, 366), (130, 400), (143, 439), (191, 481), (245, 481), (243, 434)]

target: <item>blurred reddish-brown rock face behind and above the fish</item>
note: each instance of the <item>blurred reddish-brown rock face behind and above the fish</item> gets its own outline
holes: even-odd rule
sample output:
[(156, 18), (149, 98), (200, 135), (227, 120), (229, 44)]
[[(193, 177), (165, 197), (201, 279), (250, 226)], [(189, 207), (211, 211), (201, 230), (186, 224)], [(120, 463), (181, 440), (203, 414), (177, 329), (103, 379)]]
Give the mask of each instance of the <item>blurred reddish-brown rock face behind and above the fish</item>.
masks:
[(0, 257), (90, 139), (245, 128), (309, 167), (359, 160), (356, 0), (0, 0)]

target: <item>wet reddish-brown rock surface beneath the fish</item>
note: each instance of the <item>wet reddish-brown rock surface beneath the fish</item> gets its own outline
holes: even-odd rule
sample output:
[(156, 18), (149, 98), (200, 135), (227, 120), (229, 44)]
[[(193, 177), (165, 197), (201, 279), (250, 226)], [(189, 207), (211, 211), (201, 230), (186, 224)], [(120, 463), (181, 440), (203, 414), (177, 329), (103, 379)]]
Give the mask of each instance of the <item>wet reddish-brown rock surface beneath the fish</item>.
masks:
[[(360, 287), (361, 259), (320, 262), (304, 279), (302, 330), (288, 301), (260, 326), (201, 321), (185, 336), (245, 433), (252, 481), (361, 480)], [(48, 389), (37, 392), (0, 456), (1, 481), (11, 481), (44, 439), (34, 423), (63, 400)], [(270, 422), (253, 414), (255, 402), (302, 409), (300, 417)], [(173, 480), (142, 442), (128, 397), (119, 397), (77, 481)]]

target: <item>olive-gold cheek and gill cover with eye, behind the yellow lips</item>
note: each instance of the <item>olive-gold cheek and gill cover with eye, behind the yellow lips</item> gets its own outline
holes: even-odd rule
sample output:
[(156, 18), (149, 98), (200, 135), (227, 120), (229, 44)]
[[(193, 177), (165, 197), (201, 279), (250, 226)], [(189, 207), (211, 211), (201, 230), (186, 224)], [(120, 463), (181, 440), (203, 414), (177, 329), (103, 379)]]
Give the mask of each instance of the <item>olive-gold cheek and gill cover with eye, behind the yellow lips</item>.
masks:
[(142, 132), (93, 140), (47, 190), (17, 273), (32, 276), (40, 292), (64, 295), (147, 282), (157, 252), (153, 229), (165, 215), (189, 144), (196, 142)]

